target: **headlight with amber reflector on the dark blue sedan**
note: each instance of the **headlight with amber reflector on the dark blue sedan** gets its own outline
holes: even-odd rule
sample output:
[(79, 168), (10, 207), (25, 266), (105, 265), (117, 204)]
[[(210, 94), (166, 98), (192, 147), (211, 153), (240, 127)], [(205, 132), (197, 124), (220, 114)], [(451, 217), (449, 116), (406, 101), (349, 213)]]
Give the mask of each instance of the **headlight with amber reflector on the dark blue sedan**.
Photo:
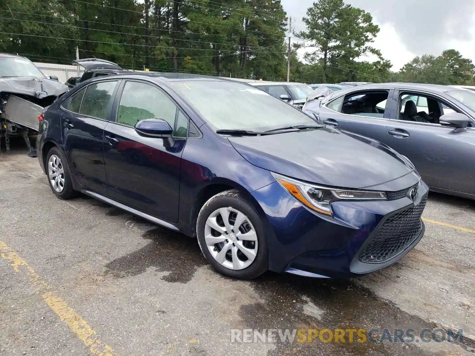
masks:
[(294, 178), (285, 177), (274, 172), (271, 172), (271, 175), (299, 202), (318, 213), (329, 216), (333, 216), (330, 203), (334, 200), (388, 199), (385, 192), (323, 187), (312, 183), (302, 182)]

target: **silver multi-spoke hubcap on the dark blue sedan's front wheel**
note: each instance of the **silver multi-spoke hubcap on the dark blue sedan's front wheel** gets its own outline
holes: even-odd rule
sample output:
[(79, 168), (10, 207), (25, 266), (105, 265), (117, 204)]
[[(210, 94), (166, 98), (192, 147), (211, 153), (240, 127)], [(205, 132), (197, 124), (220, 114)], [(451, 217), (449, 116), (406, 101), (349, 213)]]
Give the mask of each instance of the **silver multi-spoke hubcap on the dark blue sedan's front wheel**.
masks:
[(234, 208), (223, 207), (209, 215), (205, 242), (214, 259), (230, 270), (242, 270), (256, 259), (256, 230), (249, 218)]

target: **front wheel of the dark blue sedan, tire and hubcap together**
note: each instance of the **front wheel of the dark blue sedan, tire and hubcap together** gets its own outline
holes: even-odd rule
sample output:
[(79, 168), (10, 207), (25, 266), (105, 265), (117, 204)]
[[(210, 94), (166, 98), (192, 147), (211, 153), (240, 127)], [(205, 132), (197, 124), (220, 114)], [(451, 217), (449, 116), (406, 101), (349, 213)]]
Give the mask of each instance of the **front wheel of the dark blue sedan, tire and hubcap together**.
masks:
[(267, 241), (252, 203), (237, 190), (209, 199), (197, 221), (199, 247), (218, 272), (253, 279), (267, 271)]

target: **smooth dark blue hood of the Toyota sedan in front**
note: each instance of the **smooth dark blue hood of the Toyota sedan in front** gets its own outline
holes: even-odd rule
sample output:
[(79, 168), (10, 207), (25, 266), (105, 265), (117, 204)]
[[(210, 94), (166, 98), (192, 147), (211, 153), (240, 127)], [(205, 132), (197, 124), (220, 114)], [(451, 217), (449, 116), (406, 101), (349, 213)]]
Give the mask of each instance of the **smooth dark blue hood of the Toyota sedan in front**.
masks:
[(257, 167), (333, 187), (371, 187), (414, 170), (379, 141), (330, 127), (228, 140)]

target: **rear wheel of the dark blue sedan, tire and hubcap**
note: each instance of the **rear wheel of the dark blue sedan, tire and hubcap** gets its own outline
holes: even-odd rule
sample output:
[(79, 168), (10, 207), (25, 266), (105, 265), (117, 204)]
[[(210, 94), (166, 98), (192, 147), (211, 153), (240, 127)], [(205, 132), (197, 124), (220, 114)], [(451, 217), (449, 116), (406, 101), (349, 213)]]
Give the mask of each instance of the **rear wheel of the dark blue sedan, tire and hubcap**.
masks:
[(64, 153), (57, 147), (48, 151), (46, 156), (46, 174), (49, 187), (60, 199), (77, 197), (79, 192), (73, 189), (71, 170)]

